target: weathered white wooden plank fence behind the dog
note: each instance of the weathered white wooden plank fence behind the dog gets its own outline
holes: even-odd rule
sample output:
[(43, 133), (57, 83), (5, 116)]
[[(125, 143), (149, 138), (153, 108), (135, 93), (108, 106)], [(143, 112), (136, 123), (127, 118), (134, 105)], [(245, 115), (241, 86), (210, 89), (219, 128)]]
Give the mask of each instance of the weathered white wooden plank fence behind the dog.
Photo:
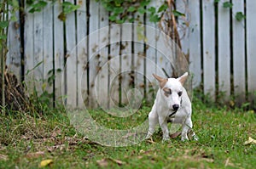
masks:
[[(186, 14), (179, 25), (183, 26), (183, 20), (189, 23), (185, 31), (179, 30), (186, 32), (183, 53), (189, 54), (193, 87), (202, 84), (212, 99), (224, 93), (226, 99), (236, 96), (237, 103), (247, 99), (253, 103), (256, 1), (232, 0), (232, 8), (224, 8), (225, 2), (176, 1), (177, 10)], [(61, 13), (58, 4), (40, 13), (26, 13), (24, 24), (11, 23), (9, 70), (20, 80), (25, 76), (29, 89), (54, 93), (54, 100), (67, 96), (65, 103), (73, 107), (137, 106), (143, 97), (152, 99), (151, 74), (165, 76), (164, 68), (171, 75), (170, 57), (175, 58), (172, 52), (166, 54), (172, 50), (160, 39), (158, 26), (148, 16), (140, 16), (131, 25), (113, 25), (95, 0), (79, 4), (79, 11), (68, 14), (65, 23), (57, 17)], [(246, 19), (237, 20), (238, 12)]]

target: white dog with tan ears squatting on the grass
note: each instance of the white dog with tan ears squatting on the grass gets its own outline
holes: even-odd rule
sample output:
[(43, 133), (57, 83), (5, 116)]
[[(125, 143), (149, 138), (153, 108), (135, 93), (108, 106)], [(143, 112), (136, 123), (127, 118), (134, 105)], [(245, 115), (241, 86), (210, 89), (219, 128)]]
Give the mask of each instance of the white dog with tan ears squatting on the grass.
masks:
[[(159, 123), (163, 132), (163, 141), (169, 140), (169, 130), (167, 122), (182, 124), (181, 140), (189, 140), (188, 132), (192, 131), (191, 121), (191, 102), (183, 83), (188, 77), (188, 72), (183, 76), (176, 78), (163, 78), (154, 75), (154, 78), (160, 82), (160, 88), (156, 94), (154, 105), (148, 115), (149, 129), (147, 138), (151, 138), (155, 126)], [(195, 132), (191, 136), (195, 137)]]

